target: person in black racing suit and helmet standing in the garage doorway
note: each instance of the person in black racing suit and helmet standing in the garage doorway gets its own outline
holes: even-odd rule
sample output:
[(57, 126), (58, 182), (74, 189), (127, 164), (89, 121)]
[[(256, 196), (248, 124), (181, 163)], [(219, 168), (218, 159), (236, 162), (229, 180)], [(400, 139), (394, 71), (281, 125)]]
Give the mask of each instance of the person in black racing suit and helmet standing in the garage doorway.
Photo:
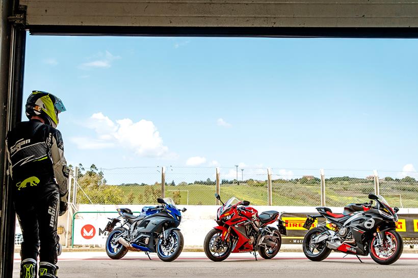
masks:
[(23, 235), (20, 277), (36, 277), (38, 254), (39, 276), (57, 277), (57, 222), (67, 210), (69, 168), (56, 127), (65, 107), (54, 95), (33, 91), (25, 108), (29, 121), (6, 139), (9, 186)]

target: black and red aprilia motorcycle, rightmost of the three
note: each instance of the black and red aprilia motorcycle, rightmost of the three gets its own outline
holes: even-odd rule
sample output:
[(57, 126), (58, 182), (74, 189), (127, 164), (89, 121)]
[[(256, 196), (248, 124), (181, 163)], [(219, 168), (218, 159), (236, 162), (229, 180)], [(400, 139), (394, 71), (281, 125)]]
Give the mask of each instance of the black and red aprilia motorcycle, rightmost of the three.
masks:
[[(305, 229), (310, 229), (318, 218), (326, 222), (307, 232), (303, 252), (312, 261), (322, 261), (332, 250), (358, 256), (370, 256), (379, 264), (392, 264), (402, 254), (402, 237), (396, 231), (399, 209), (391, 208), (386, 200), (369, 194), (375, 200), (363, 204), (349, 204), (342, 214), (327, 207), (317, 207), (319, 215), (307, 215)], [(361, 260), (360, 260), (361, 261)]]

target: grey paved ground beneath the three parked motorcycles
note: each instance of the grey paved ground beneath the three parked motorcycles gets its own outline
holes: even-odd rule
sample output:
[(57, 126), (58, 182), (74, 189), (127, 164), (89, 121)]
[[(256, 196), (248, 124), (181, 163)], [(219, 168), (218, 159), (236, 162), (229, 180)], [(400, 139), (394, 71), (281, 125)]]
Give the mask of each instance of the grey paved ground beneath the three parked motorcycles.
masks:
[[(224, 262), (212, 262), (204, 253), (184, 252), (171, 263), (151, 254), (128, 252), (111, 260), (103, 252), (63, 253), (59, 277), (418, 277), (418, 255), (404, 254), (393, 265), (376, 264), (370, 257), (360, 263), (356, 257), (331, 253), (322, 262), (311, 262), (303, 253), (279, 253), (272, 260), (254, 260), (250, 254), (232, 254)], [(19, 256), (15, 254), (13, 277), (18, 277)]]

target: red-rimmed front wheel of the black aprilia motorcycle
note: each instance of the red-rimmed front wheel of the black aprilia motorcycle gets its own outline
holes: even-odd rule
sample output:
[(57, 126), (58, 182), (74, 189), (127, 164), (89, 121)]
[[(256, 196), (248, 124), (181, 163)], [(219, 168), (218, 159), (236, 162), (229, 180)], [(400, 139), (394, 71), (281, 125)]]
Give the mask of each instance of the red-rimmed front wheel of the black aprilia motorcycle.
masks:
[(404, 250), (402, 237), (395, 230), (385, 232), (385, 236), (379, 243), (376, 236), (372, 238), (369, 245), (370, 257), (378, 264), (393, 264), (401, 257)]

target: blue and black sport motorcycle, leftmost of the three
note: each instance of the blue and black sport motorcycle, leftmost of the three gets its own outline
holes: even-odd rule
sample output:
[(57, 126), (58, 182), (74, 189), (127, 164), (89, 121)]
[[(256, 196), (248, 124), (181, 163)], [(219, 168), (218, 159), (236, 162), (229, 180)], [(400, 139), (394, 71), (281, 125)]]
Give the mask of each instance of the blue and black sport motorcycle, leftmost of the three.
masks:
[[(112, 259), (123, 258), (128, 251), (157, 253), (165, 262), (177, 259), (183, 250), (184, 239), (178, 229), (181, 212), (171, 198), (158, 198), (158, 206), (146, 206), (139, 215), (128, 208), (118, 208), (119, 217), (109, 219), (106, 253)], [(149, 258), (151, 259), (151, 258)]]

